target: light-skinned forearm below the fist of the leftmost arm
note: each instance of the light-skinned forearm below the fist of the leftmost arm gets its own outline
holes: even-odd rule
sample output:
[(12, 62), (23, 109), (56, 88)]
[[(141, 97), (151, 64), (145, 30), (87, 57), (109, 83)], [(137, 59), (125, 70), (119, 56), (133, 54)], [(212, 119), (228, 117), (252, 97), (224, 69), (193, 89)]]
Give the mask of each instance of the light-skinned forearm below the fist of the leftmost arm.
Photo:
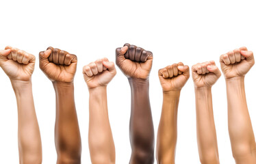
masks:
[(42, 143), (31, 81), (12, 81), (18, 107), (20, 163), (42, 163)]

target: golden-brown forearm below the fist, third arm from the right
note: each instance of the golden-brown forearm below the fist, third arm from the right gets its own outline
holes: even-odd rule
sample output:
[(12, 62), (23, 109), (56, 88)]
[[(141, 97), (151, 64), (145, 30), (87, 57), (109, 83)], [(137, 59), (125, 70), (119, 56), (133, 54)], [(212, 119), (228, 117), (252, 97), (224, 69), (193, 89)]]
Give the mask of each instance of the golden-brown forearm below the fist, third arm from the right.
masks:
[(157, 132), (157, 163), (175, 163), (179, 95), (180, 91), (163, 93), (162, 114)]

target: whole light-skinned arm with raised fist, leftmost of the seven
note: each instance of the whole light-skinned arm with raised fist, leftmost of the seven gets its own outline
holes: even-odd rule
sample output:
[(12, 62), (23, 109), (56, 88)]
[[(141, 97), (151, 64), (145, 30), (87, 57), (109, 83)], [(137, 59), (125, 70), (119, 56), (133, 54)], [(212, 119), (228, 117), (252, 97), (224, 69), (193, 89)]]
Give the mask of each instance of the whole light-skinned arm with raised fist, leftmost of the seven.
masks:
[(36, 58), (11, 46), (0, 50), (0, 66), (10, 78), (18, 107), (18, 152), (20, 163), (42, 163), (42, 143), (31, 75)]

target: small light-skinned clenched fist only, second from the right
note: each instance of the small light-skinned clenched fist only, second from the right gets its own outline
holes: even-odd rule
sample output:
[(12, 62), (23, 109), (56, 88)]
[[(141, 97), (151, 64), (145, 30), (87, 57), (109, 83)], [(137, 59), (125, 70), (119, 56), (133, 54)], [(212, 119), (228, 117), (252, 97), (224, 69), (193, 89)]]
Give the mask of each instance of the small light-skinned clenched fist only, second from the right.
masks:
[(194, 87), (212, 87), (221, 73), (214, 61), (207, 61), (192, 66)]

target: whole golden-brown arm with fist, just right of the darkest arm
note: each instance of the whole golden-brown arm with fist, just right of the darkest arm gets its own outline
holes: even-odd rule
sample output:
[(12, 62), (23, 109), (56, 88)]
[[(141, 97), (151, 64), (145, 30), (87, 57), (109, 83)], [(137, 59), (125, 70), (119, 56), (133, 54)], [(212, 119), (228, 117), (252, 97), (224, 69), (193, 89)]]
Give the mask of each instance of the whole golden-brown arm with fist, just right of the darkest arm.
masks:
[(163, 106), (157, 131), (156, 158), (159, 164), (172, 164), (175, 163), (179, 95), (190, 78), (190, 70), (180, 62), (160, 69), (158, 77), (163, 89)]

